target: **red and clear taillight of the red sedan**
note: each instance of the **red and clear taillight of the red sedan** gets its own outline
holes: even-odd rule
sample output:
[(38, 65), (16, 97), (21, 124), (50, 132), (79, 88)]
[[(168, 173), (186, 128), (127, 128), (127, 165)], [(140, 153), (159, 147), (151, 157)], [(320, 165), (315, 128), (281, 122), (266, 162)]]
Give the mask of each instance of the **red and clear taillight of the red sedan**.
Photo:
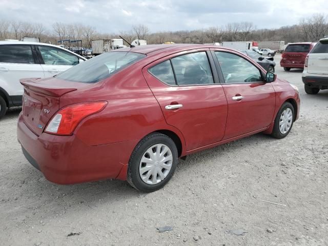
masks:
[(107, 101), (96, 101), (67, 106), (52, 117), (45, 132), (55, 135), (72, 135), (81, 120), (100, 112), (106, 105)]

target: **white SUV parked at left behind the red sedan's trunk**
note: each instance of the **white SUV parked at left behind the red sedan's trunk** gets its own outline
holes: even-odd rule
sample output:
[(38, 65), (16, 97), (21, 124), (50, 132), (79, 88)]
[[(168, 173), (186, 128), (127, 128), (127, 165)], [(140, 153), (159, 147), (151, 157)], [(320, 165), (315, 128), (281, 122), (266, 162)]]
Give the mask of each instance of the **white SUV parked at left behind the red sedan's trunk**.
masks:
[(21, 78), (54, 76), (86, 58), (64, 48), (34, 42), (0, 41), (0, 118), (22, 105)]

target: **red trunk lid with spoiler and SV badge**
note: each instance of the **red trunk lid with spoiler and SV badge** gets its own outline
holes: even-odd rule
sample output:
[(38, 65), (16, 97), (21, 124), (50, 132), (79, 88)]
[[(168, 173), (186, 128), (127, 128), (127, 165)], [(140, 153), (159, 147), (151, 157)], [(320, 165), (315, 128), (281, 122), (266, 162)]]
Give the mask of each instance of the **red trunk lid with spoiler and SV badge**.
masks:
[[(55, 78), (25, 78), (20, 79), (20, 84), (24, 86), (24, 122), (38, 136), (42, 134), (48, 121), (59, 110), (60, 96), (78, 89), (78, 83), (69, 83)], [(86, 84), (80, 86), (84, 87)]]

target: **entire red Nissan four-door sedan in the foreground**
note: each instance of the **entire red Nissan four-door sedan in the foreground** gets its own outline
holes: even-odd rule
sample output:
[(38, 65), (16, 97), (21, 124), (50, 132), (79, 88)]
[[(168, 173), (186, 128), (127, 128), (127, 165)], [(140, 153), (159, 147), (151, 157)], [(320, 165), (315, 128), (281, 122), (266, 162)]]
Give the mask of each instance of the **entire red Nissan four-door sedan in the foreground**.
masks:
[(259, 132), (285, 137), (300, 106), (295, 86), (207, 45), (119, 49), (21, 83), (18, 141), (48, 180), (116, 178), (143, 192), (165, 186), (178, 158)]

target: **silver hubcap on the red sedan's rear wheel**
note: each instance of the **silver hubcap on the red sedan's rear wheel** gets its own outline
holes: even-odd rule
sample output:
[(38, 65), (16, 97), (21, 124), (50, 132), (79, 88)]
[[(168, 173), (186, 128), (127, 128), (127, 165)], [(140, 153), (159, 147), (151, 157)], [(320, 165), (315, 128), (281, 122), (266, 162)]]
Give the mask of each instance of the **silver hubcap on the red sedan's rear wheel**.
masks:
[(144, 155), (139, 164), (139, 174), (148, 185), (156, 185), (165, 179), (172, 168), (173, 156), (169, 147), (162, 144), (153, 145)]

